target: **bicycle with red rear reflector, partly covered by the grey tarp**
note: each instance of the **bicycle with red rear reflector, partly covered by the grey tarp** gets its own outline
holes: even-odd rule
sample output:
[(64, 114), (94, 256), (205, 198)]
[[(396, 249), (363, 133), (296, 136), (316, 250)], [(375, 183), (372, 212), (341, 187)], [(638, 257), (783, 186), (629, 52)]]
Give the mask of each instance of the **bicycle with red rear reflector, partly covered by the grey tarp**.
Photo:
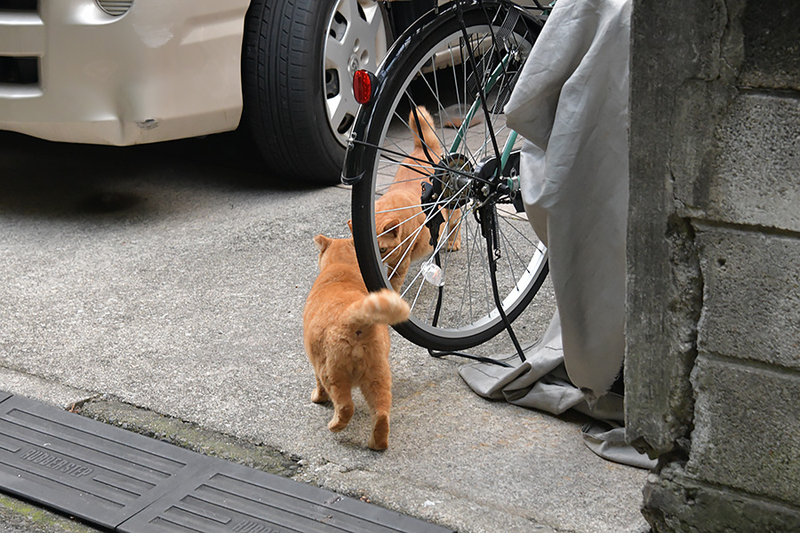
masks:
[[(547, 277), (548, 252), (524, 213), (519, 140), (503, 107), (547, 13), (535, 0), (532, 9), (509, 0), (453, 0), (412, 24), (378, 72), (356, 74), (356, 92), (367, 94), (342, 181), (353, 186), (359, 267), (370, 290), (394, 286), (409, 301), (411, 318), (395, 328), (435, 356), (484, 361), (461, 351), (508, 330), (524, 360), (511, 322)], [(414, 137), (424, 138), (420, 107), (438, 117), (429, 125), (442, 153), (423, 142), (424, 156), (412, 154)], [(379, 231), (380, 198), (400, 169), (413, 171), (420, 201), (413, 216)], [(391, 251), (380, 245), (389, 232), (406, 235)], [(459, 237), (460, 250), (451, 251)], [(423, 259), (404, 279), (387, 267), (420, 248)]]

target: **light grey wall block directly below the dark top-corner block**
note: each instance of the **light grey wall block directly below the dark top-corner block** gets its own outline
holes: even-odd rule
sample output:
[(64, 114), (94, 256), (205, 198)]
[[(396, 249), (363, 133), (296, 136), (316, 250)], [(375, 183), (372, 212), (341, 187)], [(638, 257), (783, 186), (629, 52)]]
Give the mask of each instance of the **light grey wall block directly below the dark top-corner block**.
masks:
[(697, 171), (676, 177), (695, 216), (800, 231), (800, 99), (741, 94), (710, 145)]

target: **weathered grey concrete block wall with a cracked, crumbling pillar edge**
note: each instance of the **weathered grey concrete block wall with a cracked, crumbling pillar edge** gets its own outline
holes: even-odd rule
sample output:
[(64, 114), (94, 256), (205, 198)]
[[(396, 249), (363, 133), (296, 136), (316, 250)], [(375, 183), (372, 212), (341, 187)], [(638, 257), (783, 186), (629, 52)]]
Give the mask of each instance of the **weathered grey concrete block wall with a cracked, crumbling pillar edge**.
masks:
[(626, 426), (654, 531), (800, 531), (800, 2), (634, 0)]

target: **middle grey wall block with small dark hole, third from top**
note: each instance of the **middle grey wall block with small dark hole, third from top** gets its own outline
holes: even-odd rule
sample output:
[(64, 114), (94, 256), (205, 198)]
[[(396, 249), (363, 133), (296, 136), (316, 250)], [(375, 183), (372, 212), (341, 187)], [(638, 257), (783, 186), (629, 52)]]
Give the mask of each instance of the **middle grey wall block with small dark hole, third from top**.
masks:
[(696, 239), (700, 351), (800, 370), (800, 236), (699, 226)]

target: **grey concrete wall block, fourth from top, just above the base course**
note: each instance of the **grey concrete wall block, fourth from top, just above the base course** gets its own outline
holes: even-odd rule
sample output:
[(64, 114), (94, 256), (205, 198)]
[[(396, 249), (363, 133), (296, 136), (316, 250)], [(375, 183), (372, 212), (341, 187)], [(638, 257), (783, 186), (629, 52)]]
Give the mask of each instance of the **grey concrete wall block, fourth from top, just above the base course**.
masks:
[(800, 376), (701, 355), (686, 473), (716, 486), (800, 504)]

